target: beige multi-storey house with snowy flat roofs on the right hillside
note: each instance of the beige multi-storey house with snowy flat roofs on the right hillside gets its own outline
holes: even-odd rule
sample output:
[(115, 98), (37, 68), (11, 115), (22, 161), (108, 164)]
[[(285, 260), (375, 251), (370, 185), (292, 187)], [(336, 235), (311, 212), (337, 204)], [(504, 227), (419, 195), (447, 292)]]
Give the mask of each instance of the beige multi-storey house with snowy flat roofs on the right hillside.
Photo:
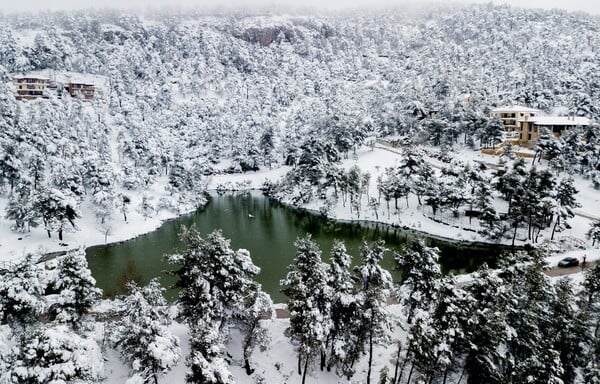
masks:
[(563, 132), (575, 127), (585, 127), (590, 120), (575, 116), (542, 116), (542, 111), (518, 105), (495, 108), (490, 111), (491, 117), (498, 117), (506, 128), (507, 140), (523, 147), (533, 146), (544, 128), (554, 136), (560, 137)]

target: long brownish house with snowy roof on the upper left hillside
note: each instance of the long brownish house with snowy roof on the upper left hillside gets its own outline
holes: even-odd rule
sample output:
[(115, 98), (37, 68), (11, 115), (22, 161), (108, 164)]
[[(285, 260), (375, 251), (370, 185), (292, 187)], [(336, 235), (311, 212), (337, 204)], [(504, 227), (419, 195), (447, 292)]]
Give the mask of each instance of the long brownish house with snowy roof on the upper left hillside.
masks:
[[(58, 76), (57, 76), (58, 75)], [(61, 97), (66, 91), (71, 97), (82, 100), (93, 100), (96, 87), (91, 81), (86, 81), (82, 76), (67, 77), (45, 71), (40, 74), (22, 74), (12, 77), (13, 85), (17, 91), (17, 100), (33, 100), (38, 97), (48, 98), (51, 93)]]

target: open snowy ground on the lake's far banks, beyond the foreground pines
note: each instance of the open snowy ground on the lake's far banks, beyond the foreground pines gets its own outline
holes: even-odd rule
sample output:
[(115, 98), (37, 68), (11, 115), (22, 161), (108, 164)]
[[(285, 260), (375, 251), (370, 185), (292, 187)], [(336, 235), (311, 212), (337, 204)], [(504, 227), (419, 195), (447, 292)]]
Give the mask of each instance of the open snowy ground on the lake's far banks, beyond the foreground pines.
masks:
[[(496, 163), (498, 158), (495, 156), (483, 155), (472, 150), (462, 150), (455, 154), (456, 158), (463, 162), (474, 163), (476, 161), (485, 163)], [(360, 167), (363, 172), (371, 174), (370, 195), (377, 196), (376, 178), (377, 175), (384, 172), (386, 167), (394, 165), (400, 157), (397, 150), (384, 146), (376, 146), (373, 150), (370, 148), (362, 148), (353, 158), (343, 161), (345, 168), (350, 168), (354, 165)], [(425, 160), (432, 166), (440, 168), (447, 164), (441, 161), (425, 156)], [(542, 164), (543, 166), (543, 164)], [(261, 170), (259, 172), (245, 174), (221, 174), (209, 176), (206, 180), (208, 189), (228, 188), (228, 189), (259, 189), (267, 180), (276, 181), (280, 179), (287, 171), (288, 167), (279, 167), (272, 170)], [(582, 207), (577, 210), (576, 215), (569, 221), (572, 228), (559, 234), (558, 241), (551, 244), (551, 248), (555, 251), (568, 251), (570, 248), (567, 245), (573, 243), (579, 244), (585, 248), (590, 248), (587, 251), (591, 258), (597, 255), (597, 249), (591, 249), (591, 243), (585, 239), (585, 233), (588, 231), (592, 218), (600, 217), (600, 193), (593, 189), (589, 180), (580, 177), (575, 178), (576, 187), (579, 190), (577, 195), (578, 201)], [(92, 207), (89, 203), (84, 203), (82, 206), (82, 217), (76, 221), (77, 230), (65, 234), (64, 240), (59, 241), (55, 235), (48, 238), (46, 232), (42, 228), (32, 229), (29, 233), (15, 233), (11, 227), (11, 222), (4, 217), (0, 218), (0, 261), (15, 260), (23, 257), (31, 252), (55, 252), (77, 247), (89, 247), (92, 245), (103, 244), (105, 242), (118, 242), (134, 238), (140, 234), (155, 230), (161, 225), (164, 220), (172, 219), (185, 212), (174, 212), (168, 210), (159, 210), (152, 217), (144, 217), (140, 212), (136, 211), (143, 196), (150, 197), (154, 204), (158, 202), (160, 197), (167, 196), (165, 190), (167, 185), (166, 178), (161, 178), (155, 183), (151, 190), (128, 193), (131, 198), (129, 204), (128, 220), (124, 221), (122, 214), (115, 210), (113, 217), (106, 224), (101, 225), (93, 214)], [(7, 204), (6, 198), (0, 198), (0, 212), (4, 212)], [(498, 202), (501, 204), (501, 202)], [(391, 204), (393, 206), (393, 203)], [(303, 208), (318, 211), (319, 203), (310, 203)], [(437, 221), (433, 221), (427, 217), (430, 213), (429, 207), (419, 206), (415, 196), (409, 198), (408, 207), (405, 202), (399, 203), (399, 210), (390, 210), (388, 216), (385, 204), (378, 208), (377, 215), (372, 209), (363, 204), (360, 217), (356, 212), (350, 211), (350, 204), (344, 207), (341, 203), (337, 204), (331, 215), (339, 220), (366, 220), (379, 221), (402, 227), (410, 228), (416, 231), (424, 232), (432, 236), (438, 236), (446, 239), (457, 241), (487, 241), (483, 236), (476, 232), (477, 227), (469, 224), (468, 218), (461, 218), (455, 221), (450, 213), (447, 218), (443, 217), (444, 221), (451, 224), (447, 225)], [(377, 216), (377, 217), (376, 217)], [(439, 215), (438, 215), (439, 218)], [(108, 233), (108, 235), (107, 235)], [(106, 236), (105, 236), (106, 235)], [(543, 240), (542, 240), (543, 243)], [(65, 245), (66, 244), (66, 245)], [(564, 248), (562, 244), (565, 244)], [(583, 251), (585, 252), (585, 251)], [(555, 258), (562, 258), (557, 255)], [(555, 264), (554, 260), (550, 260), (551, 264)]]

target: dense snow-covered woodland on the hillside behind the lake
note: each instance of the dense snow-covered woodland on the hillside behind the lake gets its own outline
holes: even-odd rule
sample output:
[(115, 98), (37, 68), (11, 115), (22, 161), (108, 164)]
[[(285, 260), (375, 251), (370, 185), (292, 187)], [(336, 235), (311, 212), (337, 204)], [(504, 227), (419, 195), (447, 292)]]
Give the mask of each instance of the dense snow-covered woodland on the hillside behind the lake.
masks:
[[(132, 210), (188, 211), (203, 203), (207, 175), (283, 164), (294, 170), (279, 195), (302, 203), (323, 198), (325, 185), (334, 190), (323, 199), (326, 211), (338, 192), (344, 199), (357, 193), (347, 180), (352, 175), (340, 175), (336, 163), (375, 137), (433, 144), (445, 155), (452, 146), (497, 144), (501, 126), (487, 117), (494, 106), (519, 103), (596, 119), (599, 28), (585, 14), (489, 5), (336, 17), (6, 15), (0, 24), (4, 214), (17, 231), (37, 226), (62, 239), (77, 227), (82, 204), (101, 224)], [(102, 76), (104, 89), (91, 103), (16, 101), (10, 75), (41, 69)], [(540, 157), (560, 173), (553, 184), (578, 173), (600, 185), (599, 140), (596, 124), (540, 140)], [(393, 173), (379, 189), (397, 200), (409, 192), (406, 185), (384, 185)], [(471, 197), (437, 202), (422, 189), (439, 182), (416, 184), (411, 193), (426, 198), (433, 215), (474, 204)], [(146, 192), (153, 185), (168, 193), (155, 198)], [(510, 203), (511, 193), (498, 186), (491, 192)], [(130, 204), (132, 195), (141, 198)], [(542, 227), (554, 227), (558, 216), (543, 216)], [(488, 217), (489, 225), (498, 221)], [(540, 227), (522, 219), (494, 226), (507, 238), (527, 227), (522, 236), (529, 240)]]

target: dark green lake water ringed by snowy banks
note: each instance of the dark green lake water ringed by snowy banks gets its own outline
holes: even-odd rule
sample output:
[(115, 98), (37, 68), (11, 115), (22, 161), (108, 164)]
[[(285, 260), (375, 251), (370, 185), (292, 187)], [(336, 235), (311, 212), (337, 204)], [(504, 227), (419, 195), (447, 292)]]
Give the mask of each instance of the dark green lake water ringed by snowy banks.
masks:
[[(123, 293), (125, 281), (134, 279), (146, 284), (160, 277), (168, 287), (174, 277), (165, 273), (170, 269), (163, 256), (184, 248), (178, 234), (182, 226), (195, 224), (202, 234), (221, 229), (231, 239), (234, 249), (246, 248), (252, 260), (261, 268), (257, 280), (274, 302), (285, 301), (279, 292), (279, 281), (287, 273), (287, 266), (295, 256), (294, 241), (310, 233), (321, 246), (327, 260), (335, 239), (346, 244), (356, 262), (363, 241), (385, 240), (388, 248), (399, 251), (407, 239), (422, 236), (430, 246), (441, 251), (440, 263), (444, 272), (470, 272), (483, 262), (494, 265), (500, 247), (459, 244), (428, 238), (411, 231), (385, 224), (357, 224), (327, 220), (319, 215), (288, 208), (257, 193), (211, 195), (210, 202), (194, 214), (165, 222), (154, 232), (123, 243), (88, 248), (87, 259), (98, 287), (107, 295)], [(392, 252), (383, 265), (392, 270)], [(168, 290), (172, 299), (175, 292)]]

